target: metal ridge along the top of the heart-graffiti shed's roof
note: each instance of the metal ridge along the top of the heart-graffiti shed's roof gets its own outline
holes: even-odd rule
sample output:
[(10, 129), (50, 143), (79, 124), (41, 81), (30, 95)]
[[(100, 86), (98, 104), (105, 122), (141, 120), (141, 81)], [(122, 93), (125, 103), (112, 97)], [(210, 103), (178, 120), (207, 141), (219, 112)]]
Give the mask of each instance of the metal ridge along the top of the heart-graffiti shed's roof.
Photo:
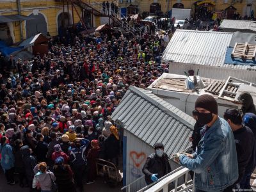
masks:
[[(170, 109), (166, 108), (163, 104), (161, 104), (159, 101), (156, 101), (155, 99), (152, 99), (152, 97), (150, 97), (150, 95), (148, 95), (148, 92), (150, 92), (150, 94), (153, 94), (152, 91), (149, 90), (143, 90), (141, 88), (136, 88), (134, 86), (129, 86), (128, 90), (130, 90), (132, 93), (135, 93), (136, 95), (142, 97), (143, 99), (147, 100), (148, 102), (150, 102), (151, 104), (153, 104), (154, 106), (156, 106), (157, 108), (159, 108), (161, 111), (163, 111), (164, 113), (167, 113), (170, 116), (173, 116), (173, 118), (175, 118), (176, 120), (178, 120), (179, 122), (181, 122), (182, 124), (186, 125), (187, 127), (189, 127), (189, 129), (193, 130), (193, 124), (191, 124), (191, 120), (187, 121), (184, 120), (184, 118), (180, 118), (180, 115), (177, 115), (177, 113), (184, 113), (183, 111), (181, 111), (179, 108), (176, 108), (175, 106), (173, 106), (172, 104), (166, 102), (165, 100), (161, 99), (160, 97), (158, 97), (157, 95), (155, 95), (158, 99), (161, 99), (161, 101), (164, 101), (166, 104), (168, 104), (168, 106), (173, 106), (174, 108), (178, 109), (177, 113), (174, 113), (173, 111), (171, 111)], [(193, 118), (192, 116), (184, 113), (184, 116), (187, 116), (189, 118)]]

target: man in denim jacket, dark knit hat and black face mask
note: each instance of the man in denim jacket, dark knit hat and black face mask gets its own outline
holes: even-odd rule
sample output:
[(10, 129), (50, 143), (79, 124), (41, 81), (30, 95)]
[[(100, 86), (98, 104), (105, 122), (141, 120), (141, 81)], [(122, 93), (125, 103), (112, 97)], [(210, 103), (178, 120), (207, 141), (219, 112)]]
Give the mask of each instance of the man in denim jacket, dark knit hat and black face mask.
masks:
[[(211, 95), (201, 95), (195, 103), (198, 123), (205, 125), (194, 154), (180, 155), (182, 166), (193, 170), (196, 192), (228, 191), (238, 179), (236, 144), (228, 123), (218, 116), (218, 105)], [(225, 190), (226, 189), (226, 190)]]

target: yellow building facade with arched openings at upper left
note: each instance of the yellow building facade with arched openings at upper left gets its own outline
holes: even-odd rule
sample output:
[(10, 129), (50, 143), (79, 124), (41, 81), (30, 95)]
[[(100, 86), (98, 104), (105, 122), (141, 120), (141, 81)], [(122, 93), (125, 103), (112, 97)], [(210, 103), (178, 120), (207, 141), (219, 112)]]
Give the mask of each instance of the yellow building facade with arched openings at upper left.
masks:
[[(83, 1), (85, 3), (90, 2), (89, 0)], [(98, 4), (102, 2), (103, 1), (101, 0), (97, 1)], [(92, 3), (92, 1), (90, 3)], [(0, 0), (0, 15), (24, 15), (36, 19), (22, 20), (21, 22), (6, 22), (5, 24), (1, 23), (0, 31), (3, 31), (3, 28), (8, 28), (10, 31), (9, 36), (12, 37), (13, 43), (19, 42), (22, 37), (23, 39), (29, 38), (30, 36), (35, 35), (34, 33), (36, 32), (49, 32), (51, 36), (56, 36), (58, 35), (58, 28), (60, 27), (61, 23), (63, 23), (63, 20), (65, 22), (65, 26), (72, 26), (73, 22), (74, 24), (79, 22), (83, 15), (85, 17), (83, 17), (83, 21), (88, 19), (86, 17), (90, 17), (89, 20), (92, 22), (90, 24), (91, 27), (97, 27), (102, 24), (102, 22), (105, 22), (104, 20), (107, 20), (101, 19), (99, 15), (88, 15), (86, 10), (83, 10), (77, 5), (73, 7), (72, 14), (71, 3), (67, 3), (67, 1), (63, 4), (61, 1), (57, 2), (53, 0), (20, 0), (20, 14), (18, 6), (19, 5), (17, 4), (16, 0)], [(22, 29), (20, 28), (20, 24)], [(2, 36), (3, 39), (3, 33), (0, 33), (0, 36)]]

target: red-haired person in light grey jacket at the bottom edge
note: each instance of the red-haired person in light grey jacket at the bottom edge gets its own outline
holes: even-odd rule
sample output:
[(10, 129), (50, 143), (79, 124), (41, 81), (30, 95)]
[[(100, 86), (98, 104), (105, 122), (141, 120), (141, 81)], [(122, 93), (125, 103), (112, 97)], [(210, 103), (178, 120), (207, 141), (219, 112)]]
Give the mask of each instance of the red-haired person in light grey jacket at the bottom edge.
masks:
[(33, 170), (35, 172), (33, 188), (40, 186), (41, 192), (53, 192), (52, 183), (56, 180), (56, 177), (54, 173), (47, 171), (47, 164), (45, 162), (36, 164)]

